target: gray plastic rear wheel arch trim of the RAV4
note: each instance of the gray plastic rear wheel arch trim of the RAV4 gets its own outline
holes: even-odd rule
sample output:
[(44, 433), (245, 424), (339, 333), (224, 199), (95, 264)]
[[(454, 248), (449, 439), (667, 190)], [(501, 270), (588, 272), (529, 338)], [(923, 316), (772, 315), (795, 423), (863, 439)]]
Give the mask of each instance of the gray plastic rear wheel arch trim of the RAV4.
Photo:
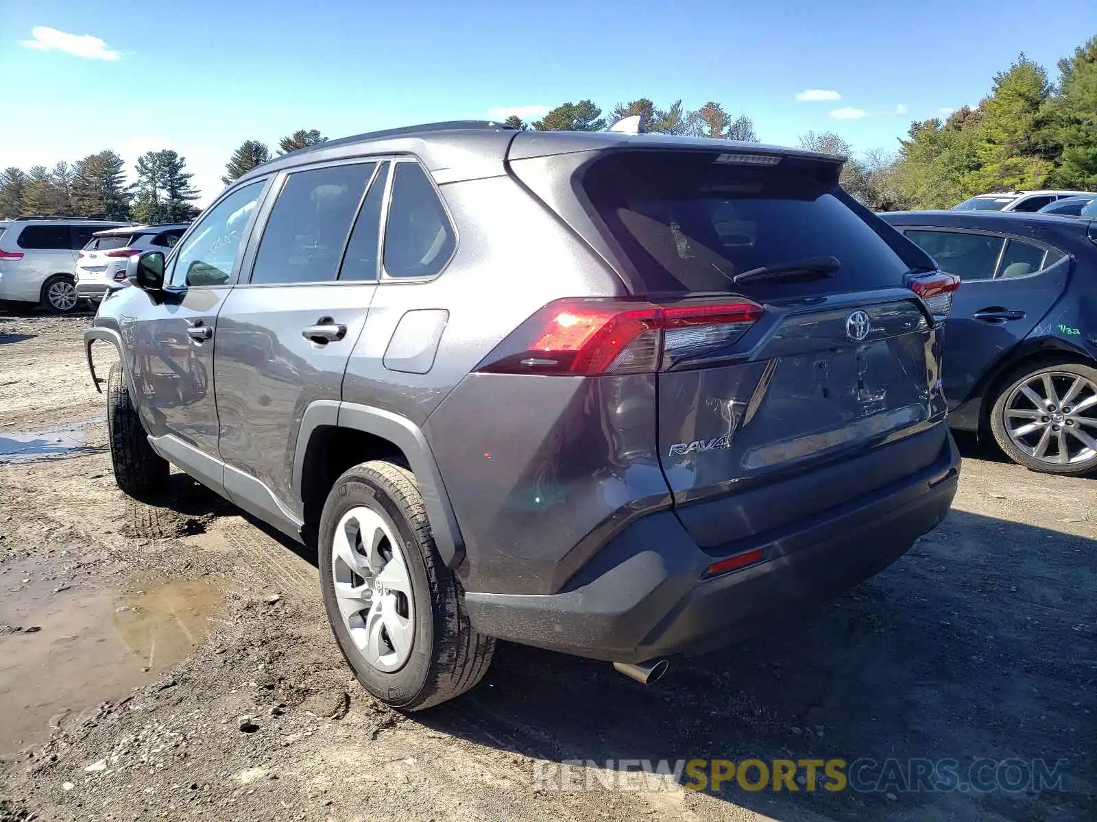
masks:
[[(464, 560), (464, 541), (427, 438), (415, 423), (383, 409), (321, 400), (305, 410), (294, 455), (293, 488), (298, 498), (294, 502), (299, 501), (302, 505), (306, 527), (315, 527), (318, 522), (316, 498), (326, 498), (328, 490), (306, 488), (326, 473), (317, 447), (323, 449), (331, 442), (339, 443), (338, 435), (333, 435), (339, 431), (353, 431), (369, 437), (359, 441), (359, 450), (341, 456), (340, 461), (352, 460), (343, 469), (361, 461), (363, 449), (369, 458), (387, 458), (407, 465), (422, 495), (438, 552), (446, 567), (457, 568)], [(323, 499), (319, 509), (323, 509)]]

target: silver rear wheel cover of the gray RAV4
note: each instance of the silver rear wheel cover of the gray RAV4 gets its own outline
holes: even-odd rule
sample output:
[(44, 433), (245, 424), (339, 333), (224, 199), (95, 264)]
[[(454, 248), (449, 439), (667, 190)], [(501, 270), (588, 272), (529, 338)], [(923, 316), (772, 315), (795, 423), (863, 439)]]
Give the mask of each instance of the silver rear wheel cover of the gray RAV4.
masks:
[(370, 665), (392, 673), (407, 662), (415, 639), (415, 600), (407, 558), (388, 523), (359, 505), (339, 521), (331, 546), (339, 614)]

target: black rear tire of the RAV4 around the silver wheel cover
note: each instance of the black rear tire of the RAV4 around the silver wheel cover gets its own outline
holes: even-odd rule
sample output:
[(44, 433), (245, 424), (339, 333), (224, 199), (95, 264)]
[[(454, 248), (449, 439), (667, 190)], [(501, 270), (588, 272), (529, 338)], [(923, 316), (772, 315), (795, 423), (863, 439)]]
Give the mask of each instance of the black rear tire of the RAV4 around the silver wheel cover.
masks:
[[(332, 540), (340, 520), (358, 506), (378, 514), (402, 541), (414, 593), (410, 655), (403, 667), (391, 673), (374, 667), (358, 651), (336, 600)], [(473, 630), (464, 593), (434, 547), (422, 496), (409, 470), (375, 460), (346, 471), (328, 494), (318, 539), (328, 621), (339, 650), (366, 690), (393, 708), (420, 710), (460, 696), (484, 677), (495, 639)]]

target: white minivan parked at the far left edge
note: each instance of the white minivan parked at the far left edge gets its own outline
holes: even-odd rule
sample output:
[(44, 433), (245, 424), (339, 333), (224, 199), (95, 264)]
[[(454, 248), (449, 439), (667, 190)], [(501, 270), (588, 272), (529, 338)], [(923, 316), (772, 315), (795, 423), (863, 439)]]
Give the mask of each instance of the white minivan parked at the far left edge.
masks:
[(21, 217), (0, 235), (0, 300), (38, 302), (66, 313), (79, 304), (77, 252), (91, 236), (123, 224), (68, 217)]

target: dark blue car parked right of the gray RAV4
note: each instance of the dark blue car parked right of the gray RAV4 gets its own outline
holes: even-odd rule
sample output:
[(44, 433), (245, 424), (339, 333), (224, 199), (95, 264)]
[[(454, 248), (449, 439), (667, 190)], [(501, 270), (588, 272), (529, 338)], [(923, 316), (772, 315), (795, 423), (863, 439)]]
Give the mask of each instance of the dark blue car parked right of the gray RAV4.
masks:
[(945, 331), (953, 427), (1048, 473), (1097, 471), (1097, 220), (881, 215), (963, 285)]

